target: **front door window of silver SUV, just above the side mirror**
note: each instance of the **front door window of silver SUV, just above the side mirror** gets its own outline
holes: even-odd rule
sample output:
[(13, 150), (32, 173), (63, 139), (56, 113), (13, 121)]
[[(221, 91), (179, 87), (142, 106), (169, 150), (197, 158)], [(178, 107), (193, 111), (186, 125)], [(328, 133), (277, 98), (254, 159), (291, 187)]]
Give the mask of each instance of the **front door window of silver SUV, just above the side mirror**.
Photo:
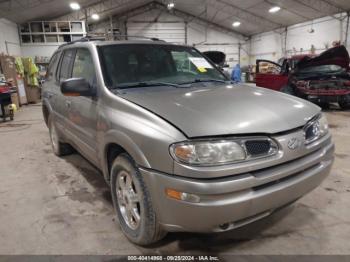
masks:
[(72, 77), (85, 78), (91, 85), (95, 83), (95, 70), (90, 51), (78, 49), (75, 55)]

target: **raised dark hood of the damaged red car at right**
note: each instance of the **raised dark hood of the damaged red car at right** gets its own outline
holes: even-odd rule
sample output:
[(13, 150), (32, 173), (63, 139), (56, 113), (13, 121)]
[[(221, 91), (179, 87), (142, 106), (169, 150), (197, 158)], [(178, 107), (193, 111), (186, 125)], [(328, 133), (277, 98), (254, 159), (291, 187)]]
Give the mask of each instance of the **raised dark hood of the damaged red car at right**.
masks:
[(349, 70), (349, 62), (349, 53), (345, 46), (341, 45), (330, 48), (314, 58), (305, 56), (297, 63), (296, 71), (307, 67), (321, 65), (338, 65)]

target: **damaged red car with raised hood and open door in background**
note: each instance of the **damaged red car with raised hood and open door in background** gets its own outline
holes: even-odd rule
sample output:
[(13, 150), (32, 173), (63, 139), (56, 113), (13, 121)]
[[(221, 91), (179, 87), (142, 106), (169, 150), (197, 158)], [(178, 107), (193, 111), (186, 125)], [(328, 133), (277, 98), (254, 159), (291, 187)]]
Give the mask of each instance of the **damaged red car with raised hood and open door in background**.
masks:
[(350, 58), (344, 46), (318, 56), (299, 55), (280, 61), (256, 61), (257, 86), (292, 94), (322, 107), (338, 102), (341, 108), (350, 108)]

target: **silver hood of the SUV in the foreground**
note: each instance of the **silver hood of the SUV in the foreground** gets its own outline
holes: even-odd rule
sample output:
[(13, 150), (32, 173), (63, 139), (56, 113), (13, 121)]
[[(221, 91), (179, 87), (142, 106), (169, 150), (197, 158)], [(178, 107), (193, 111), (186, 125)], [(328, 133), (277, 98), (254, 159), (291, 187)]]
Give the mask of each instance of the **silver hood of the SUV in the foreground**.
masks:
[(125, 89), (119, 96), (175, 125), (187, 137), (278, 133), (319, 113), (305, 100), (265, 88), (208, 84)]

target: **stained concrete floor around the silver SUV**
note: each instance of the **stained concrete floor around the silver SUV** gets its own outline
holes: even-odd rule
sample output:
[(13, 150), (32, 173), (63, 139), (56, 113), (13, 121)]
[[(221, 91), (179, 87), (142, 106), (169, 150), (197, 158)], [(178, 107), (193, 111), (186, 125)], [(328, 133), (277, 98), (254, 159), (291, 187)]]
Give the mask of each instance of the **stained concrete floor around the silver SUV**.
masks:
[(235, 231), (168, 234), (142, 248), (113, 216), (108, 186), (80, 155), (56, 157), (40, 105), (0, 123), (0, 254), (350, 254), (350, 112), (327, 112), (332, 174), (293, 207)]

